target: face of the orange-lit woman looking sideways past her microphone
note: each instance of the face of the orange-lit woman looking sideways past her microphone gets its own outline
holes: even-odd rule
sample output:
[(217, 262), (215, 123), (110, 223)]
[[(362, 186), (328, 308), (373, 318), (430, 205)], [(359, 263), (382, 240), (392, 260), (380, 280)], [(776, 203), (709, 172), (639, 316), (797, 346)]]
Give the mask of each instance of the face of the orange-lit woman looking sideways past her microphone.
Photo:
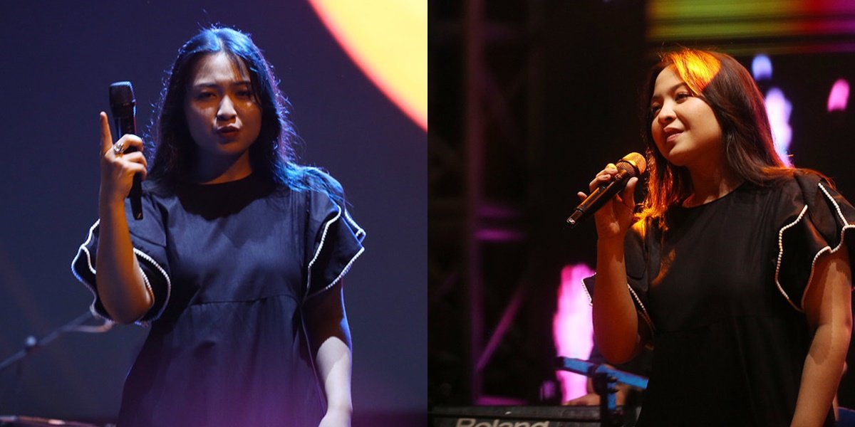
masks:
[(659, 73), (650, 105), (653, 141), (666, 160), (691, 168), (722, 159), (722, 127), (716, 115), (689, 91), (674, 67)]

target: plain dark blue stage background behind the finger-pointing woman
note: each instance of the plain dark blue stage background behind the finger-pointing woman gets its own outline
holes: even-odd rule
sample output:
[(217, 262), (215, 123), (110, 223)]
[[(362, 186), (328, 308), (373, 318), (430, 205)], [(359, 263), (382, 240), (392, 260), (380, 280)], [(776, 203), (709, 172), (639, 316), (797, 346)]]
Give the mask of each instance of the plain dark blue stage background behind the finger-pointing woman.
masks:
[[(88, 310), (91, 295), (69, 266), (97, 219), (97, 114), (109, 108), (109, 83), (133, 82), (138, 129), (146, 126), (180, 44), (213, 23), (251, 32), (292, 102), (304, 163), (345, 185), (368, 231), (345, 281), (354, 425), (419, 424), (426, 134), (302, 0), (0, 5), (0, 360)], [(130, 325), (60, 337), (0, 372), (0, 414), (109, 420), (144, 335)]]

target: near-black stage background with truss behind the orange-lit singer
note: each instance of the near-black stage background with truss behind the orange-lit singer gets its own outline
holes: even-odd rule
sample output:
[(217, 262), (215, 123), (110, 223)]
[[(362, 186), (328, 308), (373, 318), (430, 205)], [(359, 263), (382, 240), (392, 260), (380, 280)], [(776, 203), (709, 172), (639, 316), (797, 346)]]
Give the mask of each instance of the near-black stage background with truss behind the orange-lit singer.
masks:
[[(761, 88), (793, 103), (793, 164), (855, 201), (852, 97), (826, 108), (836, 79), (855, 83), (852, 4), (756, 3), (431, 3), (428, 406), (560, 401), (561, 269), (593, 267), (596, 243), (592, 222), (564, 220), (606, 163), (644, 152), (638, 96), (663, 49), (713, 46), (749, 70), (766, 53), (774, 72)], [(848, 360), (840, 403), (855, 407), (852, 348)]]

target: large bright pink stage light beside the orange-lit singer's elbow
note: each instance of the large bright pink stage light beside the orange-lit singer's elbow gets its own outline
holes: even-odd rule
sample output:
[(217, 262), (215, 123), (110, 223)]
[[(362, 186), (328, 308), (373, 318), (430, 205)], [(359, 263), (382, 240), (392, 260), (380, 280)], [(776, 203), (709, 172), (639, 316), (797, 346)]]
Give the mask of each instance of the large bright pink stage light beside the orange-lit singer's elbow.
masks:
[[(558, 355), (587, 360), (593, 346), (591, 300), (582, 288), (582, 278), (593, 275), (584, 264), (564, 266), (558, 307), (552, 318), (552, 339)], [(587, 377), (568, 371), (557, 371), (563, 401), (586, 395)]]

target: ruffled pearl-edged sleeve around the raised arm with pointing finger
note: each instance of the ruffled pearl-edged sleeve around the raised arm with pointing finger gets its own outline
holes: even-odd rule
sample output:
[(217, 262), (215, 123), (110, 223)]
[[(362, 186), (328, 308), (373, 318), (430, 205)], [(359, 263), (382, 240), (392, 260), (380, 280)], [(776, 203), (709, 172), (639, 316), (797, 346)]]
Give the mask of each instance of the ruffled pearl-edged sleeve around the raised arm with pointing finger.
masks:
[[(125, 201), (127, 225), (131, 232), (133, 253), (137, 255), (139, 267), (143, 273), (145, 286), (152, 296), (154, 304), (144, 316), (137, 320), (139, 325), (147, 325), (163, 313), (169, 300), (171, 283), (169, 280), (169, 265), (166, 254), (166, 233), (163, 228), (164, 218), (157, 208), (153, 196), (148, 191), (143, 192), (143, 219), (133, 219), (130, 202)], [(71, 271), (80, 283), (92, 292), (91, 312), (104, 319), (113, 320), (103, 307), (98, 293), (96, 280), (96, 260), (98, 247), (98, 231), (100, 219), (89, 229), (89, 234), (71, 263)]]

